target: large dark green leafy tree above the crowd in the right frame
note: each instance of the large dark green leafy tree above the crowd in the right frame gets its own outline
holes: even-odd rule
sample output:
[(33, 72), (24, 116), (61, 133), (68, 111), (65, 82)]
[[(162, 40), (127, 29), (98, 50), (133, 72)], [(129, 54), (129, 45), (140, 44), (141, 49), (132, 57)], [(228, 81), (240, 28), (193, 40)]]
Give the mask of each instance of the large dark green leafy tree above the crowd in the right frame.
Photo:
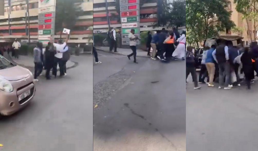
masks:
[(235, 24), (230, 20), (232, 12), (225, 9), (228, 4), (227, 0), (187, 0), (187, 42), (199, 47), (198, 43), (204, 39), (234, 27)]

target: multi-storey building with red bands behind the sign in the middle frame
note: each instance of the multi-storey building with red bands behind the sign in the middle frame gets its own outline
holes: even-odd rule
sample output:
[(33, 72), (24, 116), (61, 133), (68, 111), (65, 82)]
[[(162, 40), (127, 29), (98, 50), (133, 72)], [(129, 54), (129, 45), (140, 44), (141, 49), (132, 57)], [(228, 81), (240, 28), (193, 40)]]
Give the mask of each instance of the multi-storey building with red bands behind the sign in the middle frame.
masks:
[[(105, 0), (94, 0), (93, 1), (93, 28), (94, 33), (103, 33), (108, 30), (107, 15), (110, 20), (110, 27), (121, 28), (116, 11), (116, 1), (107, 0), (108, 14), (106, 12)], [(153, 25), (158, 21), (157, 19), (158, 4), (157, 0), (149, 1), (140, 7), (140, 30), (150, 31), (157, 30), (159, 28), (153, 28)]]

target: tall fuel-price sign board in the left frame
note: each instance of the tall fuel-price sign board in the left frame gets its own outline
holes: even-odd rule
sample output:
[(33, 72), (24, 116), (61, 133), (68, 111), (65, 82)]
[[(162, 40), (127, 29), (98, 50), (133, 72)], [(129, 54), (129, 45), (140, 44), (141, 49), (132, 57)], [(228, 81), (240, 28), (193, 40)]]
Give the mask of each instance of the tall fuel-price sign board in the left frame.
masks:
[(38, 41), (47, 45), (54, 37), (56, 0), (38, 0)]

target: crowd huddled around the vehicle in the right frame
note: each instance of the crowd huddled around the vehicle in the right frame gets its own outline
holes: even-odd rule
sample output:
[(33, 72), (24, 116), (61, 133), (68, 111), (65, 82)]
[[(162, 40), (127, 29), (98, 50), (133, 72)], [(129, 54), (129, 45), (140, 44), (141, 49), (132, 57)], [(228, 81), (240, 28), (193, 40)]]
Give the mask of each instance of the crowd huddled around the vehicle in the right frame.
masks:
[[(252, 42), (250, 48), (238, 44), (233, 46), (232, 41), (221, 41), (211, 45), (208, 50), (204, 50), (201, 60), (201, 70), (197, 79), (196, 64), (197, 58), (193, 54), (192, 47), (187, 47), (186, 53), (186, 78), (191, 73), (194, 88), (199, 89), (198, 85), (206, 83), (208, 87), (214, 87), (214, 82), (218, 78), (219, 89), (231, 89), (233, 86), (241, 86), (244, 74), (247, 89), (251, 89), (254, 80), (254, 71), (258, 73), (258, 45)], [(256, 74), (258, 76), (258, 74)], [(207, 82), (205, 82), (207, 78)]]

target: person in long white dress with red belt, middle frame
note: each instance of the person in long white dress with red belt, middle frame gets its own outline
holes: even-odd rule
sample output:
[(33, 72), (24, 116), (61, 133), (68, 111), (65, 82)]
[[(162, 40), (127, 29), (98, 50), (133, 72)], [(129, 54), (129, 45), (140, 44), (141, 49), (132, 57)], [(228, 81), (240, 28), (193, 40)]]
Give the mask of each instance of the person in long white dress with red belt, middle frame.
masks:
[(186, 52), (186, 32), (183, 31), (181, 37), (177, 39), (177, 42), (179, 42), (178, 46), (176, 47), (175, 51), (173, 52), (172, 56), (175, 57), (175, 59), (183, 59)]

